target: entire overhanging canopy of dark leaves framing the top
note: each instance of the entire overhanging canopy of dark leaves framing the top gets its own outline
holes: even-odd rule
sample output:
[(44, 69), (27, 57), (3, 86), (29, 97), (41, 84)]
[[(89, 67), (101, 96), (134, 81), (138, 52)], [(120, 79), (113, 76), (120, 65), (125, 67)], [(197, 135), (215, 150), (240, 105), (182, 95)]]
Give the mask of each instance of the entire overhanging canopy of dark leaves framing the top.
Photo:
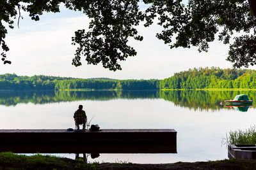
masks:
[[(102, 63), (103, 67), (116, 71), (122, 69), (119, 61), (136, 55), (128, 45), (129, 38), (142, 41), (137, 27), (157, 24), (163, 31), (156, 34), (170, 48), (198, 46), (199, 52), (207, 52), (209, 42), (216, 37), (223, 44), (231, 44), (227, 60), (234, 66), (256, 64), (255, 26), (256, 18), (247, 0), (92, 0), (92, 1), (3, 1), (0, 3), (0, 45), (4, 64), (9, 63), (6, 53), (6, 22), (13, 29), (14, 19), (20, 19), (20, 12), (26, 11), (32, 20), (39, 20), (44, 11), (60, 12), (63, 3), (70, 10), (82, 11), (91, 21), (88, 29), (79, 29), (72, 37), (72, 44), (78, 45), (72, 64), (81, 66), (81, 57), (88, 64)], [(139, 3), (148, 6), (141, 11)], [(252, 4), (252, 1), (251, 1)], [(87, 31), (87, 32), (86, 32)], [(239, 34), (234, 34), (239, 32)], [(242, 34), (241, 34), (242, 32)], [(238, 35), (238, 36), (234, 36)], [(230, 39), (234, 36), (234, 43)]]

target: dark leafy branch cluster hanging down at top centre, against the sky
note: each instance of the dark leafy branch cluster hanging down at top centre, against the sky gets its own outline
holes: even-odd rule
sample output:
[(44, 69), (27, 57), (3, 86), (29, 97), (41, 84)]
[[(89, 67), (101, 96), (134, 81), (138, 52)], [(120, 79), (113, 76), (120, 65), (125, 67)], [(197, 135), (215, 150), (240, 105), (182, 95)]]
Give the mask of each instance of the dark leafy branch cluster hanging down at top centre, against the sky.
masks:
[[(87, 6), (79, 3), (79, 6)], [(78, 8), (78, 7), (74, 7)], [(72, 64), (81, 66), (81, 56), (86, 57), (88, 64), (99, 64), (109, 70), (122, 69), (119, 61), (136, 55), (136, 51), (127, 45), (128, 39), (137, 36), (134, 28), (143, 19), (138, 9), (138, 1), (95, 1), (84, 13), (90, 18), (90, 31), (78, 30), (72, 38), (73, 45), (77, 47)]]

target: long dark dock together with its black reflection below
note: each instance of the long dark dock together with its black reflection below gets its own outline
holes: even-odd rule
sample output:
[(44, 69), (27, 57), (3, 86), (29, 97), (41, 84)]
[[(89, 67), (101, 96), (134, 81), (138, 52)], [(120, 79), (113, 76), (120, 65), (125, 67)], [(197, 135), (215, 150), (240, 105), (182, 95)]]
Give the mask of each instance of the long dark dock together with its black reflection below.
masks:
[(174, 129), (0, 130), (0, 152), (14, 153), (177, 153)]

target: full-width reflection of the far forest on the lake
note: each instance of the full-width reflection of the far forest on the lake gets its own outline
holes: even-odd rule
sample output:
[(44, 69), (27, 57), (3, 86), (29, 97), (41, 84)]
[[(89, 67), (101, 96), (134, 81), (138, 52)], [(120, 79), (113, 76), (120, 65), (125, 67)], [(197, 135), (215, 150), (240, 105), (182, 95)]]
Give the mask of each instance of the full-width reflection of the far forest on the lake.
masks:
[[(54, 92), (54, 91), (5, 91), (0, 92), (0, 104), (15, 106), (18, 103), (60, 103), (67, 101), (107, 101), (112, 99), (164, 99), (176, 106), (191, 110), (220, 110), (220, 103), (232, 99), (238, 94), (246, 94), (256, 101), (255, 91), (204, 91), (204, 90), (171, 90), (171, 91), (88, 91), (88, 92)], [(253, 103), (253, 108), (256, 105)], [(226, 108), (230, 109), (230, 108)], [(238, 109), (239, 110), (239, 109)]]

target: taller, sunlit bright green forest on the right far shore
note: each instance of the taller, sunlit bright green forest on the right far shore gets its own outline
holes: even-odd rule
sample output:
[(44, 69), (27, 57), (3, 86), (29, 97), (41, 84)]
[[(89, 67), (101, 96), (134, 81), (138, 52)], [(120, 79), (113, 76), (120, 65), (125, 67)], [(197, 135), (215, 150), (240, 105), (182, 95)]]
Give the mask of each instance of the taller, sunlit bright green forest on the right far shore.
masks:
[(256, 71), (200, 67), (161, 80), (160, 89), (256, 89)]

